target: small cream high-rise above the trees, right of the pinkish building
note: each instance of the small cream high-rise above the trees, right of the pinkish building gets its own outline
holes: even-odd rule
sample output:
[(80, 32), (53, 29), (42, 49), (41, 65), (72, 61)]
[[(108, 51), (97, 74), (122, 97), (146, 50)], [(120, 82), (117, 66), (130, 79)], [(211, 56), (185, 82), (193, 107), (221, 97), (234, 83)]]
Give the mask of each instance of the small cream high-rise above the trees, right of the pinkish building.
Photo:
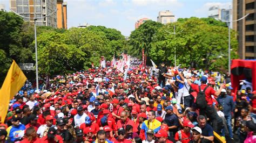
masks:
[(161, 24), (173, 23), (175, 22), (175, 16), (169, 10), (160, 11), (158, 13), (157, 22)]

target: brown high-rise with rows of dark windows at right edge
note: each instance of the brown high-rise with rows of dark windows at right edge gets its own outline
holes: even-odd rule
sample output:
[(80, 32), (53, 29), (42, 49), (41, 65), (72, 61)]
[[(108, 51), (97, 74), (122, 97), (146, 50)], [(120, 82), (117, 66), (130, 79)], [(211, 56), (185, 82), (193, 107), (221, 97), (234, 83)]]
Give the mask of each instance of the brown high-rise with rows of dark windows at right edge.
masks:
[(240, 59), (256, 59), (256, 0), (233, 0), (233, 29), (237, 31)]

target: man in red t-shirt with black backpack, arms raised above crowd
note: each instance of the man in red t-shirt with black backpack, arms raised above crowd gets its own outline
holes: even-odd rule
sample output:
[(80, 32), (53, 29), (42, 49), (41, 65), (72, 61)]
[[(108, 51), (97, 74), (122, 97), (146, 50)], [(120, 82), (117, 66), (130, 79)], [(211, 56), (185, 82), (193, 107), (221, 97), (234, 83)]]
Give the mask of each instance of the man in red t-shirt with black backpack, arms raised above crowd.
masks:
[[(199, 93), (199, 85), (192, 84), (190, 82), (190, 80), (187, 80), (187, 83), (191, 86), (191, 88), (194, 91), (197, 92), (197, 94)], [(207, 102), (207, 107), (205, 109), (200, 109), (200, 107), (198, 107), (198, 108), (200, 109), (200, 115), (205, 115), (210, 119), (210, 121), (212, 122), (213, 130), (217, 133), (220, 133), (220, 130), (221, 130), (220, 125), (222, 125), (222, 120), (217, 115), (217, 111), (215, 110), (214, 106), (212, 105), (213, 104), (212, 95), (218, 97), (220, 95), (221, 89), (223, 89), (224, 85), (221, 84), (219, 90), (215, 91), (211, 86), (208, 86), (206, 83), (207, 83), (207, 77), (202, 76), (200, 89), (201, 89), (201, 91), (204, 91), (204, 89), (206, 88), (205, 99)], [(219, 125), (218, 125), (218, 123), (219, 123)]]

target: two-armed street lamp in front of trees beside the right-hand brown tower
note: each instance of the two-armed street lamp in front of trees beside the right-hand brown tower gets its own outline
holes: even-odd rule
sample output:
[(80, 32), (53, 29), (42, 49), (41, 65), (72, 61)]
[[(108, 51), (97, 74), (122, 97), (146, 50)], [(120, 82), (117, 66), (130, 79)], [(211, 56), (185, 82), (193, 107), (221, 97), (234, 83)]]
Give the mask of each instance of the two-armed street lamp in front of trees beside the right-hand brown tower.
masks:
[[(230, 8), (230, 12), (229, 13), (231, 13), (231, 8)], [(230, 14), (229, 14), (230, 15)], [(231, 26), (231, 23), (232, 22), (238, 22), (239, 20), (242, 20), (242, 19), (244, 19), (244, 18), (246, 18), (248, 15), (250, 15), (250, 13), (248, 13), (247, 15), (245, 15), (244, 17), (242, 17), (242, 18), (240, 18), (240, 19), (237, 19), (237, 20), (228, 20), (228, 21), (226, 21), (226, 20), (221, 20), (221, 19), (218, 19), (218, 18), (215, 18), (215, 19), (217, 19), (217, 20), (220, 20), (221, 22), (225, 22), (225, 23), (227, 23), (227, 25), (228, 25), (228, 74), (230, 75), (231, 74), (231, 56), (230, 56), (230, 51), (231, 51), (231, 49), (230, 49), (230, 47), (231, 47), (231, 45), (230, 45), (230, 26)], [(230, 18), (231, 18), (231, 16), (230, 16)]]

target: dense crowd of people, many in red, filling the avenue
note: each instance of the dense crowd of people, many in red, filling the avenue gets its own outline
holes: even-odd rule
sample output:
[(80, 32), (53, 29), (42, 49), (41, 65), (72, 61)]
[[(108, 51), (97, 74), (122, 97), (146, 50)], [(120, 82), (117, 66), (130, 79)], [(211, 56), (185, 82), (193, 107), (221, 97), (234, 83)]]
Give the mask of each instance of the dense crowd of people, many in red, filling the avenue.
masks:
[(233, 93), (217, 72), (157, 68), (155, 76), (133, 64), (125, 79), (112, 67), (77, 71), (35, 91), (26, 84), (10, 101), (0, 142), (213, 142), (214, 131), (256, 142), (251, 87)]

